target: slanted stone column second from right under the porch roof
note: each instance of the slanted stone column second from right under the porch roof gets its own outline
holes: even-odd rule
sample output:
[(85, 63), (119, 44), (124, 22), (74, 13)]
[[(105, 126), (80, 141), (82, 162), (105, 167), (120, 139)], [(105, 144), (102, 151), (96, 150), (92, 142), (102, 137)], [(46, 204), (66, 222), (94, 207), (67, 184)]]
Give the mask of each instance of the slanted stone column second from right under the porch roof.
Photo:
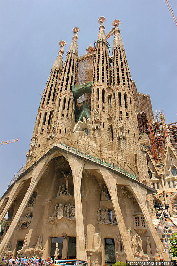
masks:
[(99, 167), (100, 172), (103, 175), (103, 179), (106, 183), (106, 186), (108, 188), (109, 194), (111, 196), (111, 200), (113, 203), (114, 211), (116, 214), (116, 219), (118, 223), (118, 228), (121, 234), (121, 238), (124, 244), (124, 250), (126, 253), (127, 260), (135, 260), (132, 249), (131, 249), (131, 244), (129, 241), (129, 237), (127, 234), (127, 229), (124, 223), (124, 218), (121, 213), (121, 208), (118, 203), (118, 197), (117, 197), (117, 178), (116, 175), (111, 173), (110, 171)]

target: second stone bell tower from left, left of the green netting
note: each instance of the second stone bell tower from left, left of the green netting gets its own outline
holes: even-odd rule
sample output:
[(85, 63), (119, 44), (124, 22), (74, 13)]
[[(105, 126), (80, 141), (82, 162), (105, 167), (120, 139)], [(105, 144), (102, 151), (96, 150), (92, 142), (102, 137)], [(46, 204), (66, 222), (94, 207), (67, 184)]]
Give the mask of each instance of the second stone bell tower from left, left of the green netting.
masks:
[(56, 138), (68, 137), (73, 132), (75, 124), (75, 102), (72, 93), (72, 85), (76, 84), (77, 77), (77, 32), (79, 28), (73, 29), (74, 36), (64, 63), (59, 90), (56, 97), (56, 108), (54, 121), (56, 126)]

